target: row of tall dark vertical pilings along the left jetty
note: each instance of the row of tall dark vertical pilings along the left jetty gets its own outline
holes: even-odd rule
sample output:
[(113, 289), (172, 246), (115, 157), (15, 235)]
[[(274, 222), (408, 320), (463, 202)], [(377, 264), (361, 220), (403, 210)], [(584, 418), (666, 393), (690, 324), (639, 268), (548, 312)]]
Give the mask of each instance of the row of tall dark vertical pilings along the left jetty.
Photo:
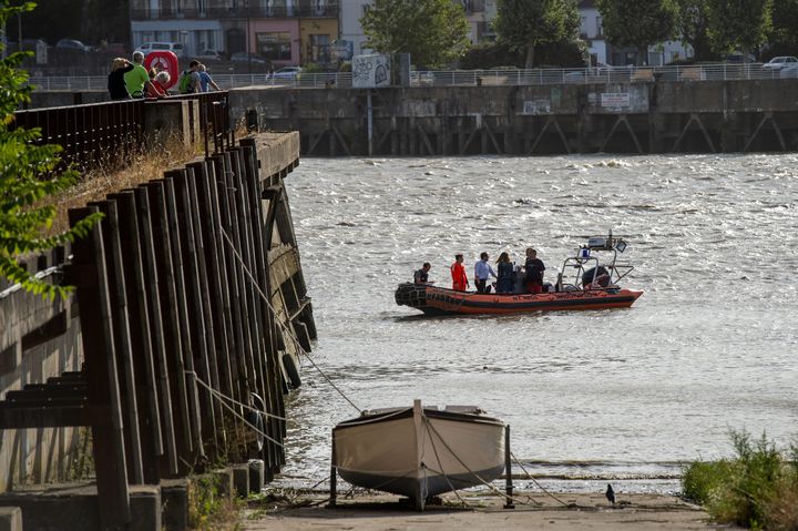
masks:
[[(270, 479), (285, 463), (285, 345), (264, 296), (279, 288), (268, 270), (277, 202), (264, 203), (258, 167), (245, 140), (70, 211), (72, 225), (104, 216), (74, 243), (66, 279), (80, 305), (84, 399), (95, 408), (84, 423), (110, 527), (130, 520), (130, 484), (253, 457)], [(313, 328), (309, 310), (301, 318)]]

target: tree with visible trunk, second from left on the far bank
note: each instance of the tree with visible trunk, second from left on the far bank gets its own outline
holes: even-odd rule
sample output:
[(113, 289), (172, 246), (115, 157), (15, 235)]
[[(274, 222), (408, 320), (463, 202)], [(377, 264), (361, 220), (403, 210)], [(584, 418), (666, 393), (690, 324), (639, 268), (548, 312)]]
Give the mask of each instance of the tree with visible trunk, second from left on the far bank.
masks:
[(580, 14), (573, 0), (499, 0), (493, 27), (499, 41), (525, 53), (524, 67), (534, 67), (541, 44), (579, 38)]

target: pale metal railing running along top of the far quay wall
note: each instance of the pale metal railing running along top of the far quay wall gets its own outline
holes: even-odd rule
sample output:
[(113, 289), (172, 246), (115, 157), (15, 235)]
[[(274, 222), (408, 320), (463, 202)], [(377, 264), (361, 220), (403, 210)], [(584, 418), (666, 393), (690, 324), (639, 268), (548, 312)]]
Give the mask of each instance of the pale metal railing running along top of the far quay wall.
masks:
[[(284, 86), (299, 89), (349, 89), (351, 72), (301, 73), (296, 79), (258, 74), (213, 74), (222, 89), (244, 86)], [(545, 85), (645, 83), (653, 81), (697, 82), (798, 79), (798, 68), (775, 70), (761, 63), (713, 63), (684, 67), (601, 67), (586, 69), (502, 69), (412, 71), (411, 86), (462, 85)], [(71, 78), (31, 78), (30, 84), (43, 91), (103, 91), (108, 86), (104, 75)]]

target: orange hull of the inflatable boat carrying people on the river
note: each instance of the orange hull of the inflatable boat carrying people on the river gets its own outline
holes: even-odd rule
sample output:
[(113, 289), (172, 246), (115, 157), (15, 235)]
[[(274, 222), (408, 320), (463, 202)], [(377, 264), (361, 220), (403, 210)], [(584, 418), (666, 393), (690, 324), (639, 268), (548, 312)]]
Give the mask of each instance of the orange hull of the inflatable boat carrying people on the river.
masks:
[(518, 314), (583, 309), (628, 308), (643, 292), (589, 289), (542, 294), (481, 294), (436, 286), (400, 284), (396, 302), (428, 315)]

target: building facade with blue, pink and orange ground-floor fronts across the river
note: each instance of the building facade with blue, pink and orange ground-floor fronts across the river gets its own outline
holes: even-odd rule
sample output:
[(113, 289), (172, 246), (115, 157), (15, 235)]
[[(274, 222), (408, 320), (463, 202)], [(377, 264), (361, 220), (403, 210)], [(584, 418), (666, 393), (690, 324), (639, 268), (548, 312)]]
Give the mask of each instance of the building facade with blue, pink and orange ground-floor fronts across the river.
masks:
[(132, 44), (177, 42), (186, 59), (216, 50), (274, 68), (328, 64), (338, 17), (338, 0), (131, 0)]

